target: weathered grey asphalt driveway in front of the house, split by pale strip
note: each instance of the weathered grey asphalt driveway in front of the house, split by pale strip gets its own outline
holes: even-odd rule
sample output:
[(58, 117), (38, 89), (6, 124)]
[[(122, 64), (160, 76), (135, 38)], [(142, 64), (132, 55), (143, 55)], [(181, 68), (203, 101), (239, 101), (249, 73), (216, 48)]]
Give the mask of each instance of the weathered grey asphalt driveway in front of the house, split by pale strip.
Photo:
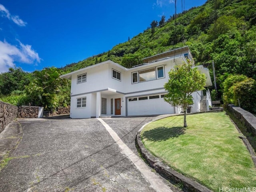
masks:
[[(137, 153), (138, 130), (154, 117), (103, 119)], [(18, 119), (23, 137), (0, 171), (0, 191), (154, 192), (98, 119)], [(166, 187), (166, 186), (165, 186)]]

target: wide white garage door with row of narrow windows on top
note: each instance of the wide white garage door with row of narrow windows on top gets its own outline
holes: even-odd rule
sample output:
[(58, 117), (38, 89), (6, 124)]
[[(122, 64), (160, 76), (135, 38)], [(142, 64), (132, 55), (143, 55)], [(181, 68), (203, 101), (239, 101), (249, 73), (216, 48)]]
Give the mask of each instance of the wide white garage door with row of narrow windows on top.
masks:
[(173, 114), (174, 107), (164, 101), (163, 95), (150, 95), (128, 98), (128, 116)]

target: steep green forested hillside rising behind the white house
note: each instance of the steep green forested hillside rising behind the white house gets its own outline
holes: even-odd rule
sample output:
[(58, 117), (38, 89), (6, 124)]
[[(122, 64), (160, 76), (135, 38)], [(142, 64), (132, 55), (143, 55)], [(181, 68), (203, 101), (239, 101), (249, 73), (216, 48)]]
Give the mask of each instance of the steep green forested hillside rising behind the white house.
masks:
[[(230, 74), (252, 78), (250, 82), (254, 90), (256, 87), (254, 82), (256, 80), (255, 24), (256, 0), (208, 0), (203, 6), (191, 8), (176, 16), (173, 15), (170, 18), (162, 16), (161, 20), (152, 21), (149, 24), (150, 27), (143, 33), (131, 39), (127, 37), (127, 42), (114, 46), (108, 52), (86, 58), (78, 63), (68, 64), (59, 69), (58, 73), (68, 73), (106, 60), (112, 60), (130, 68), (142, 63), (144, 57), (189, 46), (197, 65), (203, 64), (212, 72), (212, 60), (214, 60), (219, 98), (224, 89), (228, 91), (228, 88), (233, 86), (232, 83), (228, 85), (229, 87), (224, 87), (225, 84), (223, 84)], [(38, 72), (24, 73), (24, 75), (31, 77), (36, 73)], [(8, 86), (3, 83), (6, 74), (9, 74), (10, 78), (15, 77), (13, 71), (0, 74), (0, 93), (3, 95), (23, 94), (28, 97), (24, 88), (25, 90), (28, 86), (30, 89), (33, 88), (31, 84), (34, 78), (25, 78), (19, 81), (19, 85)], [(65, 91), (68, 89), (64, 84), (58, 89), (58, 93), (62, 89)], [(231, 96), (234, 96), (233, 92)], [(68, 100), (68, 98), (62, 100)], [(60, 103), (55, 106), (61, 105)], [(68, 102), (63, 103), (68, 104)]]

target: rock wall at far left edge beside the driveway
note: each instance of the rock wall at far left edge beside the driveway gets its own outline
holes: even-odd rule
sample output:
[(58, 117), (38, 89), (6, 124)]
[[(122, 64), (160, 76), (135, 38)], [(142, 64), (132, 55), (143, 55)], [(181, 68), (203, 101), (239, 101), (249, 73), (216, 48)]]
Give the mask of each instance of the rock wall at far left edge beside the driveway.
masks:
[(17, 114), (17, 106), (0, 101), (0, 133), (9, 123), (17, 118)]

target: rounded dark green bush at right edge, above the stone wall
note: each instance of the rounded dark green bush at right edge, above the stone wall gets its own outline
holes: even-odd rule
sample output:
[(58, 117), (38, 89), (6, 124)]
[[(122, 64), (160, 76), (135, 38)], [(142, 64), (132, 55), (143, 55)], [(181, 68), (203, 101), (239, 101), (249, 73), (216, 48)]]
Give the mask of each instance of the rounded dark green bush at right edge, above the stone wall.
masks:
[(240, 102), (241, 108), (250, 112), (256, 112), (256, 81), (246, 78), (234, 86), (234, 103)]

